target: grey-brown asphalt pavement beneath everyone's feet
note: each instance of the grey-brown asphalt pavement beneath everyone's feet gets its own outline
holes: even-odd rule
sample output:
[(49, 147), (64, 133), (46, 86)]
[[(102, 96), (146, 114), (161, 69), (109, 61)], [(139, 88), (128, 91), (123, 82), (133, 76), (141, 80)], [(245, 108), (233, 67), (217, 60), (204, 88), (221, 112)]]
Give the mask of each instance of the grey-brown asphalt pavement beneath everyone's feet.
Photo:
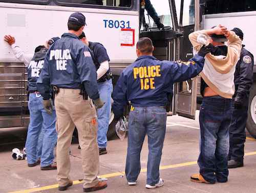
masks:
[[(13, 160), (11, 150), (22, 148), (26, 131), (0, 130), (0, 192), (58, 192), (56, 171), (40, 171), (40, 166), (28, 167), (26, 160)], [(82, 172), (78, 144), (71, 147), (71, 173), (74, 185), (66, 192), (82, 192)], [(108, 187), (97, 192), (256, 192), (256, 140), (247, 135), (244, 167), (229, 170), (227, 183), (200, 184), (191, 182), (190, 175), (198, 173), (199, 122), (180, 116), (167, 118), (167, 130), (160, 167), (164, 186), (146, 189), (147, 138), (141, 152), (141, 173), (136, 186), (128, 186), (124, 168), (127, 138), (108, 142), (108, 154), (100, 156), (101, 178)]]

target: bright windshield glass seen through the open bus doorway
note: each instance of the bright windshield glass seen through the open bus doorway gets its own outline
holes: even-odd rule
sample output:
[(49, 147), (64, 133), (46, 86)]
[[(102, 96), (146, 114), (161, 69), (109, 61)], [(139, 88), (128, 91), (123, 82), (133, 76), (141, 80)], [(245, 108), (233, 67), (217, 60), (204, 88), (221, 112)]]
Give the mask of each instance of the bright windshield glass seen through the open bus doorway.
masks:
[[(172, 17), (170, 16), (170, 6), (169, 1), (167, 0), (151, 0), (151, 4), (153, 5), (154, 9), (156, 10), (158, 17), (160, 18), (160, 22), (163, 23), (165, 27), (173, 27), (172, 24)], [(148, 15), (147, 11), (145, 10), (145, 21), (149, 28), (156, 28), (157, 25), (155, 24), (154, 20)]]

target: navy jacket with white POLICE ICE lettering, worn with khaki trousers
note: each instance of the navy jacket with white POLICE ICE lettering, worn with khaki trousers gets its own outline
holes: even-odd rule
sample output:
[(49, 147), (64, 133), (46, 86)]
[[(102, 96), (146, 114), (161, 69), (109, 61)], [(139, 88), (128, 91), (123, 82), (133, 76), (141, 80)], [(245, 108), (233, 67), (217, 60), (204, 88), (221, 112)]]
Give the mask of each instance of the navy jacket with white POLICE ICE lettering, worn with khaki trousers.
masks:
[(91, 50), (76, 35), (65, 33), (46, 54), (44, 67), (37, 80), (37, 90), (47, 100), (50, 98), (50, 85), (80, 89), (81, 84), (91, 99), (99, 99)]

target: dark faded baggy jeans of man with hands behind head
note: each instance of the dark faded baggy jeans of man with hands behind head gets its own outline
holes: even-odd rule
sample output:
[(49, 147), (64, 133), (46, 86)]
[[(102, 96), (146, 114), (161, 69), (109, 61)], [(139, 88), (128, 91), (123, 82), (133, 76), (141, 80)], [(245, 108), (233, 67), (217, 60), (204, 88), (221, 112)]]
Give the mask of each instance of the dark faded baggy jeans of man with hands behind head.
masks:
[(226, 182), (228, 178), (229, 126), (231, 99), (205, 97), (200, 114), (200, 174), (210, 183)]

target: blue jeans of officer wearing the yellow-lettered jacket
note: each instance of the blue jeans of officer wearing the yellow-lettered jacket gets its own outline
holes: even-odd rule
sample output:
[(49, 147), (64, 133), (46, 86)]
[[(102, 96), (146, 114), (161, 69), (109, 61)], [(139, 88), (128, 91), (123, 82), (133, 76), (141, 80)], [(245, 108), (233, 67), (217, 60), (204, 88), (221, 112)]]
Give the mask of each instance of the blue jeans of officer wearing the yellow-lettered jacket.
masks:
[(146, 183), (159, 181), (159, 165), (166, 129), (166, 110), (163, 107), (135, 107), (129, 115), (128, 148), (125, 166), (126, 179), (135, 182), (140, 173), (140, 152), (147, 134), (148, 159)]

